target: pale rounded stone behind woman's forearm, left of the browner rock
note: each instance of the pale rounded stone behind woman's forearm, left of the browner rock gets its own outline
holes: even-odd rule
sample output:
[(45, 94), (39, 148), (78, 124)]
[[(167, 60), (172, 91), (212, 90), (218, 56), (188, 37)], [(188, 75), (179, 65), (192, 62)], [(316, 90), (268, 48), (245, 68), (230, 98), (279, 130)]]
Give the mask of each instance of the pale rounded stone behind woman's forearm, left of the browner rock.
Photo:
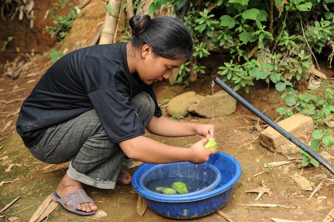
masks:
[(193, 91), (176, 96), (168, 103), (167, 112), (171, 116), (174, 114), (186, 116), (188, 114), (188, 107), (204, 97), (197, 95)]

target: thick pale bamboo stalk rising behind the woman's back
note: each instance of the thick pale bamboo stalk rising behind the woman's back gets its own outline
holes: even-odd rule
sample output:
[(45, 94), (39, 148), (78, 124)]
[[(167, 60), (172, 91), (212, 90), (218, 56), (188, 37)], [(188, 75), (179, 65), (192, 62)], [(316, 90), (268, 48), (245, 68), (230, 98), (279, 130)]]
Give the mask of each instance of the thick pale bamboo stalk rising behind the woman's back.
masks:
[(120, 3), (121, 1), (109, 0), (108, 7), (111, 7), (113, 14), (109, 15), (108, 13), (106, 13), (99, 45), (113, 42), (114, 34), (117, 31), (116, 27), (119, 17)]

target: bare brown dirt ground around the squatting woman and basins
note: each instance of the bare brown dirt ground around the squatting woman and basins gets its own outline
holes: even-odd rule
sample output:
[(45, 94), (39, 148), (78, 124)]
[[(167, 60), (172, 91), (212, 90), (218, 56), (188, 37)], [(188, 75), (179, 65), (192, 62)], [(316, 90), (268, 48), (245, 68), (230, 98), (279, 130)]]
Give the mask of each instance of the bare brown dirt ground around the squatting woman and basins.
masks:
[[(85, 46), (89, 45), (99, 29), (96, 24), (104, 20), (101, 5), (100, 1), (92, 1), (87, 6), (88, 8), (84, 9), (85, 14), (81, 16), (82, 19), (76, 20), (77, 24), (73, 25), (69, 36), (64, 40), (66, 43), (58, 46), (59, 49), (72, 49), (77, 45), (76, 42), (80, 42)], [(90, 13), (92, 11), (94, 13)], [(94, 22), (85, 23), (83, 21), (84, 18), (90, 18)], [(82, 23), (81, 25), (80, 22)], [(88, 24), (91, 25), (89, 26)], [(82, 28), (82, 26), (86, 28)], [(82, 35), (82, 32), (80, 33), (78, 30), (84, 30), (85, 35)], [(35, 60), (34, 65), (44, 67), (46, 65), (45, 60), (48, 57), (45, 55), (36, 56), (39, 56), (39, 59)], [(30, 60), (31, 58), (22, 59)], [(211, 95), (211, 82), (217, 75), (215, 70), (222, 64), (222, 60), (224, 60), (223, 57), (213, 54), (205, 61), (202, 61), (205, 66), (211, 67), (210, 72), (190, 82), (186, 88), (183, 88), (182, 85), (171, 86), (168, 81), (156, 83), (154, 87), (158, 102), (172, 99), (188, 91)], [(333, 69), (329, 69), (326, 62), (322, 62), (321, 67), (325, 74), (329, 76), (333, 74)], [(25, 73), (20, 74), (16, 79), (6, 76), (5, 72), (0, 73), (0, 116), (3, 123), (3, 126), (0, 127), (0, 216), (7, 215), (0, 218), (0, 221), (29, 221), (38, 206), (56, 190), (59, 181), (66, 172), (66, 165), (55, 166), (36, 160), (25, 148), (16, 133), (17, 111), (22, 105), (22, 100), (20, 99), (29, 95), (33, 86), (41, 77), (41, 75), (27, 77), (29, 72), (26, 71)], [(302, 84), (301, 89), (305, 90), (305, 88)], [(219, 90), (221, 88), (215, 85), (214, 91), (218, 92)], [(275, 109), (284, 105), (274, 88), (268, 87), (267, 84), (262, 82), (258, 82), (252, 87), (248, 94), (240, 92), (240, 95), (259, 110), (264, 111), (273, 120), (279, 117)], [(163, 115), (168, 116), (164, 108), (165, 106), (162, 106)], [(287, 158), (279, 153), (269, 151), (260, 144), (256, 139), (259, 136), (259, 131), (256, 127), (253, 127), (257, 124), (257, 121), (250, 120), (247, 116), (254, 115), (238, 103), (237, 109), (233, 114), (214, 118), (214, 124), (217, 129), (216, 138), (219, 144), (218, 150), (236, 158), (242, 167), (241, 178), (234, 187), (231, 199), (220, 210), (235, 222), (273, 221), (270, 218), (323, 221), (334, 207), (334, 176), (323, 166), (307, 167), (302, 170), (297, 167), (297, 163), (289, 163), (265, 168), (264, 163), (284, 161)], [(177, 121), (213, 122), (212, 119), (201, 118), (191, 114)], [(164, 138), (151, 134), (147, 134), (147, 136), (162, 143), (180, 147), (187, 147), (189, 144), (198, 141), (196, 137)], [(333, 163), (333, 151), (324, 151), (329, 154), (327, 161)], [(11, 170), (8, 170), (11, 164), (15, 165)], [(60, 167), (60, 169), (57, 167)], [(130, 168), (128, 171), (133, 173), (136, 168)], [(263, 171), (265, 172), (255, 176)], [(312, 198), (309, 198), (312, 191), (301, 190), (293, 180), (295, 176), (301, 175), (312, 182), (313, 190), (322, 182), (321, 188)], [(246, 192), (263, 186), (267, 186), (270, 192), (265, 193), (259, 200), (256, 200), (258, 193)], [(102, 190), (85, 186), (85, 190), (95, 200), (99, 209), (107, 214), (99, 218), (99, 221), (174, 221), (174, 219), (165, 218), (154, 213), (149, 208), (146, 209), (141, 217), (137, 212), (138, 194), (131, 186), (116, 186), (114, 190)], [(1, 209), (17, 197), (20, 198), (5, 212), (1, 213)], [(289, 206), (289, 208), (280, 206), (246, 207), (239, 205), (255, 203), (277, 204)], [(69, 212), (61, 206), (56, 207), (47, 220), (96, 221)], [(218, 213), (213, 213), (205, 217), (189, 219), (188, 221), (227, 220)]]

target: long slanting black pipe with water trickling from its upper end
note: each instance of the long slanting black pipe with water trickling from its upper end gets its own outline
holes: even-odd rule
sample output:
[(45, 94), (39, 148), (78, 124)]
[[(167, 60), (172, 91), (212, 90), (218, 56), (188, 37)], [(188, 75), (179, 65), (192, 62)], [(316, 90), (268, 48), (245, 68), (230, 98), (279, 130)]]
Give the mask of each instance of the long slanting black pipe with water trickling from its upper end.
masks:
[(287, 138), (289, 141), (296, 144), (299, 148), (304, 150), (307, 154), (309, 154), (311, 157), (313, 157), (316, 161), (321, 163), (324, 167), (326, 167), (332, 174), (334, 174), (334, 168), (332, 165), (330, 165), (325, 159), (323, 159), (319, 154), (314, 152), (311, 148), (306, 146), (304, 143), (302, 143), (300, 140), (298, 140), (296, 137), (291, 135), (288, 131), (283, 129), (280, 125), (278, 125), (276, 122), (274, 122), (272, 119), (270, 119), (268, 116), (260, 112), (257, 108), (255, 108), (252, 104), (247, 102), (244, 98), (242, 98), (239, 94), (237, 94), (232, 88), (230, 88), (226, 83), (224, 83), (221, 79), (218, 77), (215, 77), (213, 80), (217, 85), (219, 85), (226, 93), (228, 93), (231, 97), (233, 97), (236, 101), (241, 103), (244, 107), (246, 107), (248, 110), (250, 110), (252, 113), (257, 115), (260, 119), (265, 121), (268, 125), (270, 125), (272, 128), (274, 128), (276, 131), (278, 131), (282, 136)]

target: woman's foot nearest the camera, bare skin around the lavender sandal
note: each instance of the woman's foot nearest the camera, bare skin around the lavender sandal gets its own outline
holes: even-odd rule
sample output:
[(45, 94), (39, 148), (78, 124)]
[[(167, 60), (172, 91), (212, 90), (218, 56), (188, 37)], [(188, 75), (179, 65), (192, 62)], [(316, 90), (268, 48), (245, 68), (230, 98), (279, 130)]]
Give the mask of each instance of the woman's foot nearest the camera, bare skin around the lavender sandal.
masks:
[[(131, 182), (130, 182), (131, 183)], [(83, 189), (82, 184), (78, 181), (71, 179), (67, 174), (64, 175), (61, 182), (58, 184), (57, 187), (57, 195), (61, 198), (62, 196), (69, 194), (73, 191), (77, 191)], [(68, 202), (66, 205), (68, 206)], [(77, 206), (77, 209), (83, 212), (90, 213), (92, 211), (96, 211), (98, 207), (95, 203), (81, 203)]]

